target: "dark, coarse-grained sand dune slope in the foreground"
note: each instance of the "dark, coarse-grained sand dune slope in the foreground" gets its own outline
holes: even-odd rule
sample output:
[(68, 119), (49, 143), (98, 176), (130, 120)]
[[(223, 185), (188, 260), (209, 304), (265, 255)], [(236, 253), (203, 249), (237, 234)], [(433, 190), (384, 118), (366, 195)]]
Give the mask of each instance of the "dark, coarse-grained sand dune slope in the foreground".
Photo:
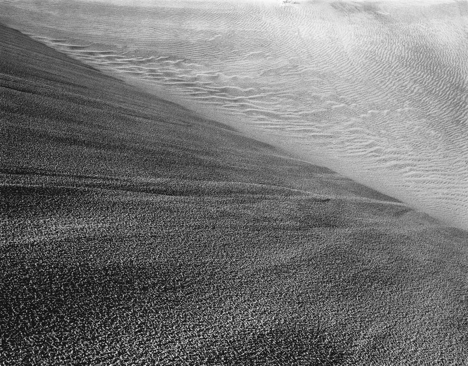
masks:
[(465, 231), (0, 27), (4, 365), (463, 365)]

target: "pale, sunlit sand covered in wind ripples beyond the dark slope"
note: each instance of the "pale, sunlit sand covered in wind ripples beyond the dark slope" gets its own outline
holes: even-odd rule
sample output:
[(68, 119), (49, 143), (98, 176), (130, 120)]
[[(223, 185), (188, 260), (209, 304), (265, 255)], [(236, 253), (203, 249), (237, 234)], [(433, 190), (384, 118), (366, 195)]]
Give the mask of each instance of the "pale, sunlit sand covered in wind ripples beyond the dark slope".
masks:
[(466, 228), (468, 6), (0, 1), (0, 21)]

